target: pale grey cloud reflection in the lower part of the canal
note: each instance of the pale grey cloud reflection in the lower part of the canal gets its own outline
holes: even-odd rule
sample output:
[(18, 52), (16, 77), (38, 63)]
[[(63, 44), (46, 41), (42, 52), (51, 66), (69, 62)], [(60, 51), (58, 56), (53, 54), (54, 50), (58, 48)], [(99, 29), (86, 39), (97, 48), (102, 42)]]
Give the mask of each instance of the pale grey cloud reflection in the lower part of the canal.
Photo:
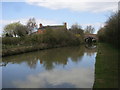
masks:
[[(72, 68), (70, 70), (45, 71), (35, 75), (28, 75), (25, 80), (13, 81), (17, 88), (50, 88), (77, 87), (92, 88), (94, 72), (89, 68)], [(63, 86), (66, 84), (67, 86)]]

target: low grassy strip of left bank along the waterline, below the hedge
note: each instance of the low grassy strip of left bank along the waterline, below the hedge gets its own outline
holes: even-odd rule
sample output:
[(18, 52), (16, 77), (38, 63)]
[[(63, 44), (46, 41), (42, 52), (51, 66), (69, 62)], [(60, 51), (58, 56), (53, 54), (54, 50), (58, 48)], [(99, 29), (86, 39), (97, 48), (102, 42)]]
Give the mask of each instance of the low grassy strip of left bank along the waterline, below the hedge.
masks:
[(22, 53), (27, 53), (27, 52), (33, 52), (33, 51), (38, 51), (38, 50), (58, 48), (58, 47), (67, 47), (67, 45), (52, 46), (52, 45), (47, 45), (47, 44), (40, 44), (40, 45), (34, 45), (34, 46), (19, 46), (15, 48), (3, 49), (2, 57), (17, 55), (17, 54), (22, 54)]

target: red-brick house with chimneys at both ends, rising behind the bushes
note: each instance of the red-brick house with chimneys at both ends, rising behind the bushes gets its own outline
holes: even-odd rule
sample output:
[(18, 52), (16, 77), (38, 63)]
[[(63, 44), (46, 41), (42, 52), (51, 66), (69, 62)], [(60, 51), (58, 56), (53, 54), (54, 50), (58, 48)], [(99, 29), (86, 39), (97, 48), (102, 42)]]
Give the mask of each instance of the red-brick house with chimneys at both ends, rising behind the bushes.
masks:
[(41, 23), (39, 24), (39, 28), (37, 30), (37, 33), (44, 33), (48, 29), (54, 29), (54, 30), (67, 30), (67, 23), (65, 22), (63, 25), (55, 25), (55, 26), (43, 26)]

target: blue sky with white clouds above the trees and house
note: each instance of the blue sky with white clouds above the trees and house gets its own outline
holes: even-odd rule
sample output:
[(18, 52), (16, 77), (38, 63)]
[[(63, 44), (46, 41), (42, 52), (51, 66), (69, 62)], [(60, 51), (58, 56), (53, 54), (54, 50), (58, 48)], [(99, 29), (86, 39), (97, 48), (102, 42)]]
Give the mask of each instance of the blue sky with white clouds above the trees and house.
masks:
[(26, 24), (35, 18), (37, 24), (79, 24), (95, 28), (95, 33), (108, 17), (118, 10), (118, 0), (2, 0), (0, 2), (0, 34), (5, 25), (20, 21)]

